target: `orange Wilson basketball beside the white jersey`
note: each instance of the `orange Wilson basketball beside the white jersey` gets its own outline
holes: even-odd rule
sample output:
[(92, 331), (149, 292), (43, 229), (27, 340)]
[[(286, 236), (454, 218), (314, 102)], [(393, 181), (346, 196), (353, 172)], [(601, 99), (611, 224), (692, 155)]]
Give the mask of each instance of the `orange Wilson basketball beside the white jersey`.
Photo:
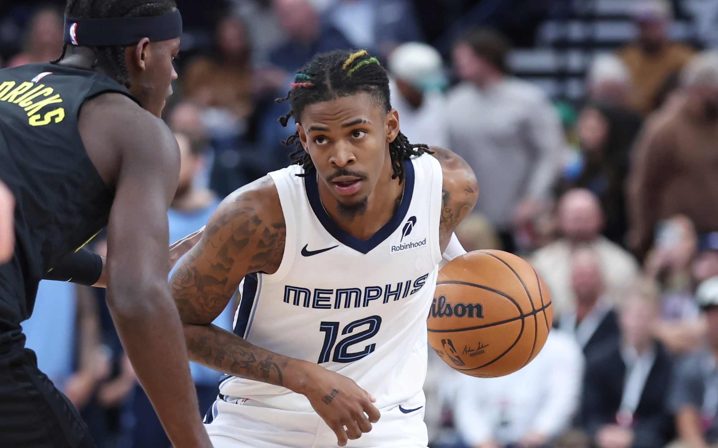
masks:
[(549, 336), (551, 295), (531, 265), (508, 252), (474, 251), (439, 271), (429, 344), (467, 375), (508, 375), (536, 357)]

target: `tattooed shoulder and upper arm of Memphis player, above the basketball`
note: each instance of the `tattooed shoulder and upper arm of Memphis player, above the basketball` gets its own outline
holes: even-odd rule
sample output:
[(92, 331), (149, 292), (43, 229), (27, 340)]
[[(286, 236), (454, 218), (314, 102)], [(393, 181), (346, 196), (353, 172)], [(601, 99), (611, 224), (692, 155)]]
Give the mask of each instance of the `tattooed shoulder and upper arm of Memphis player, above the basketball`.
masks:
[(442, 187), (442, 215), (439, 226), (442, 253), (451, 240), (451, 235), (457, 225), (471, 213), (476, 198), (479, 195), (479, 186), (476, 175), (464, 159), (448, 149), (432, 146), (434, 157), (439, 160), (444, 173)]

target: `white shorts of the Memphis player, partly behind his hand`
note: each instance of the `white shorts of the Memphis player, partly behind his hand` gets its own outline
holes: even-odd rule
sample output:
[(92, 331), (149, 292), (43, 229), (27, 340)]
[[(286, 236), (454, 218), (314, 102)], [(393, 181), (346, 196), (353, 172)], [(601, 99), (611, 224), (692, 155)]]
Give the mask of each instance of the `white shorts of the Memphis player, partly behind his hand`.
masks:
[[(227, 401), (225, 401), (227, 400)], [(294, 412), (253, 405), (225, 397), (215, 401), (205, 424), (215, 448), (337, 447), (334, 431), (314, 412)], [(379, 409), (381, 418), (370, 432), (350, 440), (352, 448), (426, 448), (424, 392), (406, 403)]]

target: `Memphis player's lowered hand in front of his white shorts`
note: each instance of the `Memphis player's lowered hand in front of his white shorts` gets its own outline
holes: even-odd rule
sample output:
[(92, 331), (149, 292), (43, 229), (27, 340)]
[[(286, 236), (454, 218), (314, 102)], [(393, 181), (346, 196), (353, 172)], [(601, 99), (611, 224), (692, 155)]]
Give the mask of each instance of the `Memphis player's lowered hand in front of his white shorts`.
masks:
[(320, 365), (310, 365), (303, 389), (300, 393), (309, 398), (314, 411), (337, 434), (340, 447), (348, 439), (358, 439), (371, 431), (371, 424), (381, 416), (373, 405), (376, 398), (350, 378)]

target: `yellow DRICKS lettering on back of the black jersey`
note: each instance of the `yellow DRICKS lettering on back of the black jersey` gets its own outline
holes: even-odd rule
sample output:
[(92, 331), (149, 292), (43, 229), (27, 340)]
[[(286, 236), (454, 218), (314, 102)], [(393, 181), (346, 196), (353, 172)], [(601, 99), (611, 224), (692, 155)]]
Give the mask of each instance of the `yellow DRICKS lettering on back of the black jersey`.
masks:
[[(62, 103), (59, 93), (45, 84), (15, 81), (0, 83), (0, 101), (17, 104), (27, 113), (27, 122), (30, 126), (45, 126), (52, 121), (60, 123), (65, 119), (65, 108), (46, 109), (52, 104)], [(44, 110), (42, 110), (44, 109)], [(42, 112), (41, 112), (42, 110)]]

